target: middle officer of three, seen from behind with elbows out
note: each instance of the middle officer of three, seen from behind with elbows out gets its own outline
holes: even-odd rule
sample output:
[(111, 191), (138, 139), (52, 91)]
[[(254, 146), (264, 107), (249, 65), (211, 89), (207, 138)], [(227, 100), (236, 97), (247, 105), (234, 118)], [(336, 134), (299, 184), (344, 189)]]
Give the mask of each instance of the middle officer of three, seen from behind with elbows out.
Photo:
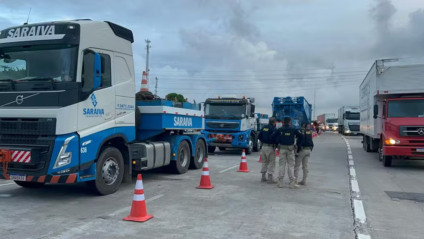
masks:
[(284, 118), (283, 127), (279, 128), (274, 134), (273, 139), (279, 144), (280, 160), (278, 173), (278, 187), (283, 187), (283, 179), (287, 164), (287, 174), (290, 179), (290, 188), (298, 188), (294, 177), (294, 153), (296, 138), (300, 139), (302, 134), (291, 126), (290, 117)]

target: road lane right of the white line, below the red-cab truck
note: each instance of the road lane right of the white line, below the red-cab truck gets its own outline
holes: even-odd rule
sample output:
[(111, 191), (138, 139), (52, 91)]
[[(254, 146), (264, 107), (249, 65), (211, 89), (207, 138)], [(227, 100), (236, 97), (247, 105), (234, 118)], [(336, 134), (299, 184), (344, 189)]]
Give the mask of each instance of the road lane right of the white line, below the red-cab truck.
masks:
[(347, 138), (372, 238), (424, 238), (424, 161), (386, 168), (377, 153), (362, 149), (361, 137)]

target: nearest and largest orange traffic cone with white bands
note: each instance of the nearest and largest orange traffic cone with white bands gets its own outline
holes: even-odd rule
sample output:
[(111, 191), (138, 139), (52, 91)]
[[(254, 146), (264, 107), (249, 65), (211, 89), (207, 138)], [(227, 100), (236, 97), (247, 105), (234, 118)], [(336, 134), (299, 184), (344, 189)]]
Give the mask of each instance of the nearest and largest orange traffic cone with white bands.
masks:
[(146, 201), (144, 198), (143, 180), (141, 174), (137, 175), (137, 182), (134, 189), (134, 198), (131, 206), (130, 215), (124, 217), (125, 221), (145, 222), (152, 218), (153, 215), (147, 214)]

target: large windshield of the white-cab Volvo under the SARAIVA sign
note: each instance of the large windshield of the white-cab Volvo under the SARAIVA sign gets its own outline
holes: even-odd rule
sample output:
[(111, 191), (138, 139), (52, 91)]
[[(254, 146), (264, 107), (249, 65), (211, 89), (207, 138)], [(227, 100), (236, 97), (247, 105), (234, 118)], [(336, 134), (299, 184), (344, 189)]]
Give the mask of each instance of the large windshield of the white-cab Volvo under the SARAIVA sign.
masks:
[(0, 48), (0, 81), (75, 81), (76, 59), (75, 46)]

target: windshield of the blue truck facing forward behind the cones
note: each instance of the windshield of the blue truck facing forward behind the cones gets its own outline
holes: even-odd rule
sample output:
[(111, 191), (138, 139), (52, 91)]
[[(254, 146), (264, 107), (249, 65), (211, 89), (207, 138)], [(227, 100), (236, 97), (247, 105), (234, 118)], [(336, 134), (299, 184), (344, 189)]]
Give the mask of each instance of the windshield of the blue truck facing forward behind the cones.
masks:
[(241, 119), (246, 115), (246, 105), (206, 104), (206, 118)]

